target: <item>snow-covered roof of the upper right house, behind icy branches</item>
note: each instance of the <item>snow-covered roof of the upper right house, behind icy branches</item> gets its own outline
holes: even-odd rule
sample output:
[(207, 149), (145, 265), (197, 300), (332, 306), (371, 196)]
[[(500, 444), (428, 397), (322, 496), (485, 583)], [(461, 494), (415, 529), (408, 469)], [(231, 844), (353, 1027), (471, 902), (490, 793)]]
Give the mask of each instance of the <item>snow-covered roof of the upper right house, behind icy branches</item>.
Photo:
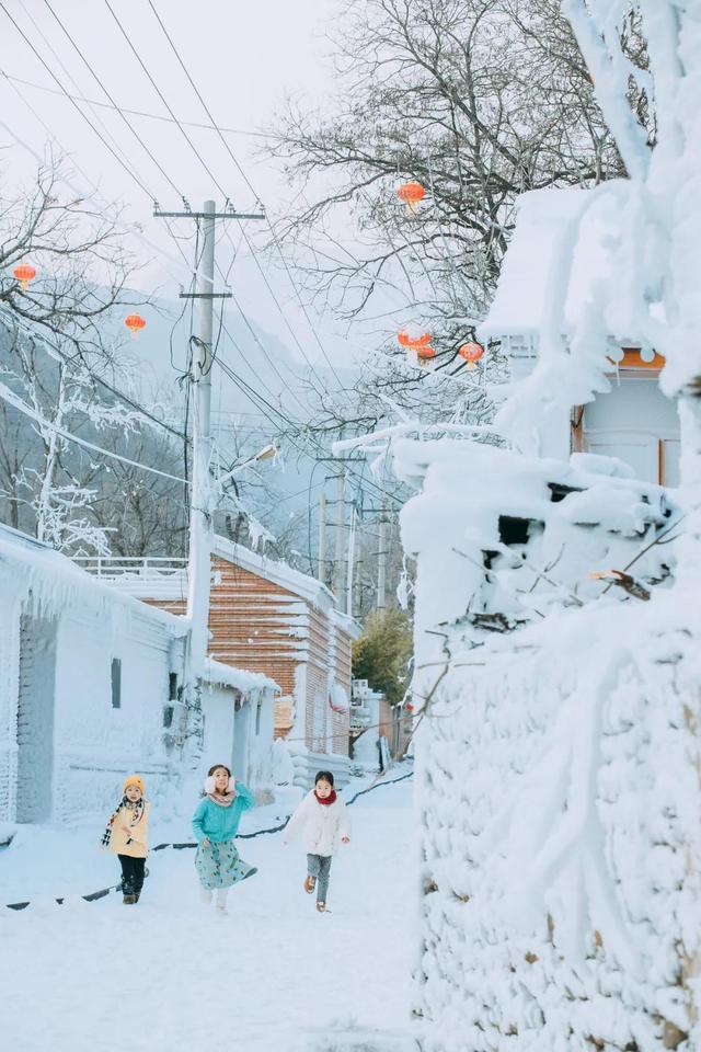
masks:
[(614, 232), (614, 202), (601, 198), (600, 206), (597, 203), (597, 207), (591, 208), (595, 193), (567, 186), (536, 190), (519, 197), (516, 227), (496, 295), (480, 325), (483, 339), (540, 332), (547, 320), (548, 291), (563, 276), (565, 329), (570, 328), (593, 283), (606, 276), (607, 252), (602, 237)]

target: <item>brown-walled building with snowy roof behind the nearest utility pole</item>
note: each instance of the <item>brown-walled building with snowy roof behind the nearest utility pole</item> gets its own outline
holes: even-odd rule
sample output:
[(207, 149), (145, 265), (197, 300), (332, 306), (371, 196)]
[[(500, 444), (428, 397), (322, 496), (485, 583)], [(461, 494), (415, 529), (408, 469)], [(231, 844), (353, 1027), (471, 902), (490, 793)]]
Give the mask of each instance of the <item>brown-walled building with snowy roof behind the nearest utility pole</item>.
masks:
[[(152, 561), (131, 594), (183, 614), (184, 565)], [(292, 755), (296, 781), (308, 785), (319, 767), (343, 784), (349, 767), (353, 640), (359, 628), (335, 608), (314, 578), (215, 537), (211, 559), (208, 655), (219, 664), (262, 673), (279, 685), (275, 736)]]

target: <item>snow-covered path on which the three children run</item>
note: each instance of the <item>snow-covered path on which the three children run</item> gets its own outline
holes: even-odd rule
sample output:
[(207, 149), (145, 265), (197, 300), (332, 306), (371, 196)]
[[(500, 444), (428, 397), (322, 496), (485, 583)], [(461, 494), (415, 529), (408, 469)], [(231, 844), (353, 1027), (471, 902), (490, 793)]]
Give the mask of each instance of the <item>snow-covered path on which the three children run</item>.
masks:
[[(353, 844), (334, 860), (326, 916), (301, 889), (302, 848), (284, 848), (279, 835), (241, 842), (260, 873), (232, 890), (228, 917), (197, 903), (192, 851), (152, 856), (135, 908), (113, 895), (3, 911), (3, 1045), (325, 1052), (358, 1048), (354, 1031), (379, 1030), (378, 1049), (404, 1052), (410, 809), (411, 782), (354, 805)], [(323, 1037), (340, 1031), (347, 1038), (337, 1043)]]

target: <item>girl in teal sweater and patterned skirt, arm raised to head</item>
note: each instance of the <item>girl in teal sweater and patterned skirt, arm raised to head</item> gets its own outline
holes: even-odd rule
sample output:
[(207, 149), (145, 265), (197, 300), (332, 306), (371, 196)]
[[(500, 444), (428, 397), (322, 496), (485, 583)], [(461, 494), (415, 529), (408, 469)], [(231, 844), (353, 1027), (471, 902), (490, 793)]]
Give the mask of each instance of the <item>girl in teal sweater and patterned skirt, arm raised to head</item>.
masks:
[(216, 890), (216, 906), (227, 913), (229, 888), (257, 872), (239, 858), (233, 838), (239, 832), (241, 815), (254, 803), (250, 789), (231, 777), (225, 764), (215, 764), (205, 778), (204, 799), (193, 815), (197, 839), (195, 869), (199, 877), (200, 899), (209, 905)]

